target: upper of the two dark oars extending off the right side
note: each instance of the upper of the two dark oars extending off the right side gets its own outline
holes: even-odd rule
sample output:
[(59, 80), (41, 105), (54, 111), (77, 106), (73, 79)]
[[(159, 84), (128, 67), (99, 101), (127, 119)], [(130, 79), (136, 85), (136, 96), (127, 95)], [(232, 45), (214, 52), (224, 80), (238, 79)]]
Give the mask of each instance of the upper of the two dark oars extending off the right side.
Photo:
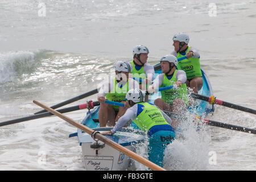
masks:
[(243, 107), (243, 106), (240, 106), (240, 105), (231, 104), (229, 102), (217, 100), (213, 96), (207, 97), (207, 96), (202, 96), (202, 95), (196, 94), (196, 93), (191, 93), (191, 96), (193, 98), (197, 98), (197, 99), (200, 99), (200, 100), (203, 100), (203, 101), (207, 101), (207, 102), (209, 102), (209, 104), (217, 104), (217, 105), (221, 105), (221, 106), (230, 107), (232, 109), (237, 109), (237, 110), (245, 111), (247, 113), (256, 114), (256, 110), (254, 110), (254, 109), (250, 109), (250, 108)]

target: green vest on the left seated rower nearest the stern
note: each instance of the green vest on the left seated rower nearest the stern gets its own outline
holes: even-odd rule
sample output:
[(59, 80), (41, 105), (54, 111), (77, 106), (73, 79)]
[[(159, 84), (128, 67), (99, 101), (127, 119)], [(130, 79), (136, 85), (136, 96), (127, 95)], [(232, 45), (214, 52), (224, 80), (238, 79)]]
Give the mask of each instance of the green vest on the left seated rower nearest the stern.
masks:
[[(114, 102), (122, 102), (125, 100), (126, 93), (129, 91), (129, 80), (127, 80), (126, 84), (119, 88), (117, 85), (117, 80), (114, 78), (114, 88), (110, 91), (110, 93), (106, 94), (106, 99)], [(119, 106), (112, 105), (114, 110), (119, 110)]]

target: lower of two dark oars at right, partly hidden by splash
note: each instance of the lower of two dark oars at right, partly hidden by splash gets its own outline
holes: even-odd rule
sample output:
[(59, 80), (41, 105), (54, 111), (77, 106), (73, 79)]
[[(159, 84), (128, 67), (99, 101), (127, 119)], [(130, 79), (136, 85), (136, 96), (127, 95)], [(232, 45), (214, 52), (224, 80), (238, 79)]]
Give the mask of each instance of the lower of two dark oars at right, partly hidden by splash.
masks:
[[(172, 113), (170, 111), (165, 110), (164, 113), (166, 113), (171, 118), (177, 118), (177, 119), (184, 118), (182, 115), (177, 114), (177, 113)], [(256, 130), (254, 130), (254, 129), (249, 129), (249, 128), (242, 127), (242, 126), (230, 125), (230, 124), (227, 124), (227, 123), (212, 121), (212, 120), (209, 120), (209, 119), (200, 119), (200, 118), (197, 118), (197, 119), (199, 119), (205, 125), (222, 127), (224, 129), (230, 129), (230, 130), (242, 131), (242, 132), (245, 132), (245, 133), (256, 134)]]

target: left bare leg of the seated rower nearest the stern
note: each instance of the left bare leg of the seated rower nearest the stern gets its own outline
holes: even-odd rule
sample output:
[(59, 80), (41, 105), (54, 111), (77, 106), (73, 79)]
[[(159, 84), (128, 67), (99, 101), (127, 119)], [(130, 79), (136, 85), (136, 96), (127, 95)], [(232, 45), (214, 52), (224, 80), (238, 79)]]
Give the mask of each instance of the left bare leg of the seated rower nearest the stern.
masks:
[(115, 119), (115, 112), (110, 104), (101, 104), (100, 110), (98, 111), (98, 119), (100, 122), (100, 127), (106, 127), (107, 123), (113, 123)]

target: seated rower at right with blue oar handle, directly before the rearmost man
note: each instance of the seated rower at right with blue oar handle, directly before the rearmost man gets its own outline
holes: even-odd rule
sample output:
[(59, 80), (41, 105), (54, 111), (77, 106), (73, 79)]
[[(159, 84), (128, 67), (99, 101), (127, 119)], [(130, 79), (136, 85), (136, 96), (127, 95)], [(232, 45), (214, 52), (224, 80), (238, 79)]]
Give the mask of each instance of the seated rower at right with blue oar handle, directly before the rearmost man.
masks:
[[(177, 70), (177, 58), (174, 55), (166, 55), (160, 60), (162, 74), (159, 74), (154, 83), (149, 87), (150, 92), (165, 86), (174, 86), (172, 89), (161, 91), (162, 98), (157, 98), (154, 104), (161, 110), (167, 110), (182, 114), (187, 110), (188, 97), (186, 73)], [(172, 127), (176, 129), (179, 120), (173, 118)]]

